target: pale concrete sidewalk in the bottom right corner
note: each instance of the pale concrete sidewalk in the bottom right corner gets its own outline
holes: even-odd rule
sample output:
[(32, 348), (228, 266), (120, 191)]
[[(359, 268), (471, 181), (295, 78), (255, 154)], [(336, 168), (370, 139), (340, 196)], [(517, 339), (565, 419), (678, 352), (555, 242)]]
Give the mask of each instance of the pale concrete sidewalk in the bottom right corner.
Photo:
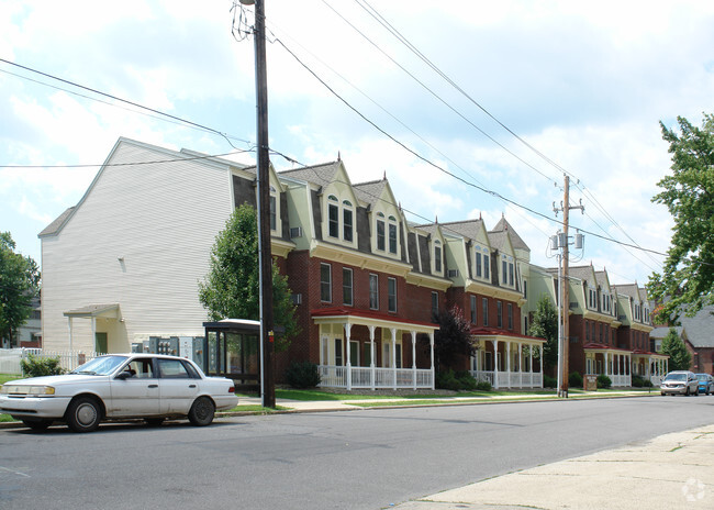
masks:
[(394, 508), (712, 509), (714, 425), (490, 478)]

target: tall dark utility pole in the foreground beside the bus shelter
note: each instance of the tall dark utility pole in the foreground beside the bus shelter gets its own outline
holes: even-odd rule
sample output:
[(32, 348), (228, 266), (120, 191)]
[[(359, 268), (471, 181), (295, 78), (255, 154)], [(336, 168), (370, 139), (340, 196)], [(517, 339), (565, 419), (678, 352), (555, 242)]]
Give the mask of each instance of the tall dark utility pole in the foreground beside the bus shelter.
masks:
[(255, 88), (258, 141), (256, 176), (258, 182), (258, 258), (260, 273), (260, 396), (264, 407), (275, 408), (272, 254), (270, 250), (270, 154), (268, 149), (268, 74), (265, 43), (265, 0), (241, 0), (241, 3), (255, 3)]

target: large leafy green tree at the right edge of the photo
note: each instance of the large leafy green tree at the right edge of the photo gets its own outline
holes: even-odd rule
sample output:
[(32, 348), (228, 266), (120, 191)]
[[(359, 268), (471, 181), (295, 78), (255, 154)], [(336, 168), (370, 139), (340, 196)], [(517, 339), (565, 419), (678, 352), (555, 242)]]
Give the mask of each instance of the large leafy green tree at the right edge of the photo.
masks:
[(657, 184), (662, 191), (652, 201), (667, 206), (674, 226), (662, 274), (654, 273), (648, 286), (670, 323), (714, 302), (714, 117), (704, 113), (701, 129), (678, 122), (679, 134), (660, 122), (672, 174)]

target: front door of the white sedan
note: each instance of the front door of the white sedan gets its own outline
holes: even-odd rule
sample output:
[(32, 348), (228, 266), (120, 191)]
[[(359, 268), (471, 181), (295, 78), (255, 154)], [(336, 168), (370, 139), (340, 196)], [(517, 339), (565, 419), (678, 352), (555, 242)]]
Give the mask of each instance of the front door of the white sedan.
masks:
[(150, 357), (132, 358), (111, 380), (108, 417), (158, 414), (159, 386)]

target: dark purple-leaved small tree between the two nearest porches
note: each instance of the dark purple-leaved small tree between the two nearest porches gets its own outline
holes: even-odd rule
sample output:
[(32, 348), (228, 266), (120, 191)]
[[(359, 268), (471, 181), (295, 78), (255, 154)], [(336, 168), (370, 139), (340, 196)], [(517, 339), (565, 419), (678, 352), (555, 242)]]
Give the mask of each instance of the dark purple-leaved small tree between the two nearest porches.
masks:
[(471, 339), (469, 322), (457, 306), (439, 313), (436, 320), (439, 329), (434, 334), (434, 365), (436, 372), (444, 372), (454, 368), (464, 357), (471, 357), (477, 345)]

